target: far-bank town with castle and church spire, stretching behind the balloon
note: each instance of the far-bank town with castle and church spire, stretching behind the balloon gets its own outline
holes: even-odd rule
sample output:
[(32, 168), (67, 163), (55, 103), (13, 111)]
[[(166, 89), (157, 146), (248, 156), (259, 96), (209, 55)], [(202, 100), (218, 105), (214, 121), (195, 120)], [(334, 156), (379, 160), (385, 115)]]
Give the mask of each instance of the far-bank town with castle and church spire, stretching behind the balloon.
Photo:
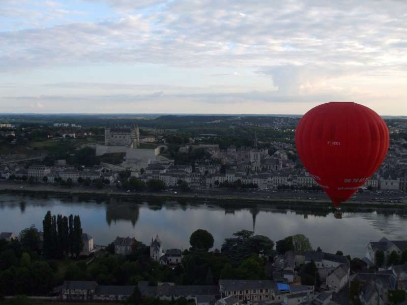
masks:
[[(110, 119), (104, 128), (52, 121), (19, 124), (14, 119), (2, 124), (2, 146), (8, 154), (0, 157), (0, 177), (65, 187), (111, 185), (128, 192), (143, 186), (153, 191), (229, 189), (228, 193), (320, 190), (297, 156), (297, 117), (198, 118), (198, 122), (183, 116), (127, 119), (123, 124), (109, 123)], [(165, 129), (152, 128), (159, 124)], [(406, 191), (407, 124), (402, 119), (387, 119), (387, 124), (391, 135), (387, 157), (361, 188), (379, 191), (373, 193), (373, 201), (386, 201), (380, 191)], [(206, 130), (220, 134), (197, 133)], [(12, 154), (13, 150), (24, 153)], [(400, 197), (391, 200), (402, 202)]]

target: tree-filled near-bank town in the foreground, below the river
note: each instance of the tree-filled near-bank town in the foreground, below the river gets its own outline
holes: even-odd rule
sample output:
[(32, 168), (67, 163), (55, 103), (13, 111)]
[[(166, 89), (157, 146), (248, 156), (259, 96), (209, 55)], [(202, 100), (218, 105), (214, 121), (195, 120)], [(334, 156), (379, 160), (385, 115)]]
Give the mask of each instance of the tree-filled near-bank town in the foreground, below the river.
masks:
[[(81, 249), (75, 236), (81, 236)], [(301, 234), (274, 243), (242, 230), (226, 238), (220, 250), (210, 251), (213, 244), (212, 234), (199, 229), (191, 234), (191, 248), (183, 252), (165, 249), (158, 234), (149, 246), (134, 237), (117, 236), (101, 247), (82, 233), (79, 216), (68, 220), (47, 213), (43, 231), (30, 227), (18, 235), (0, 233), (0, 296), (196, 305), (401, 304), (405, 300), (407, 240), (383, 237), (367, 242), (363, 258), (345, 256), (340, 250), (335, 254), (319, 247), (313, 250)]]

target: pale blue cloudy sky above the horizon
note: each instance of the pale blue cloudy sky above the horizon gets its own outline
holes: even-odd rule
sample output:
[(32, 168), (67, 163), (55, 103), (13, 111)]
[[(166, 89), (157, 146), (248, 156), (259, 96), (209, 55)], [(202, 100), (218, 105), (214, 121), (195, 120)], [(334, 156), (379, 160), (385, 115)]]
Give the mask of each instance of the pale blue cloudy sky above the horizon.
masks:
[(404, 0), (0, 0), (0, 112), (407, 115)]

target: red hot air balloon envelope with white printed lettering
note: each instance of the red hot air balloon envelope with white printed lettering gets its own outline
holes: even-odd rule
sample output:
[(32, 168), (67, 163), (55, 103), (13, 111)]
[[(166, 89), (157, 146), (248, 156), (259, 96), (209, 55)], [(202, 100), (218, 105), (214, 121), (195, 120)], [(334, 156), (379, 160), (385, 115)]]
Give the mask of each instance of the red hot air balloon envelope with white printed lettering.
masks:
[(305, 113), (295, 141), (301, 162), (338, 207), (382, 164), (389, 131), (370, 108), (330, 102)]

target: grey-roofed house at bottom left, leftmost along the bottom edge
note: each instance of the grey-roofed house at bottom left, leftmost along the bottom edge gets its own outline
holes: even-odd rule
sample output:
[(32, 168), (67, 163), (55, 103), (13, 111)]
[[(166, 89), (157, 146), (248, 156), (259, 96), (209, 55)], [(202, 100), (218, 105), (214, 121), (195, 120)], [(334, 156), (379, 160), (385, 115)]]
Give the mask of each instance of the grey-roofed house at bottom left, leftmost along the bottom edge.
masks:
[(93, 281), (65, 281), (60, 297), (62, 300), (92, 301), (97, 286)]

